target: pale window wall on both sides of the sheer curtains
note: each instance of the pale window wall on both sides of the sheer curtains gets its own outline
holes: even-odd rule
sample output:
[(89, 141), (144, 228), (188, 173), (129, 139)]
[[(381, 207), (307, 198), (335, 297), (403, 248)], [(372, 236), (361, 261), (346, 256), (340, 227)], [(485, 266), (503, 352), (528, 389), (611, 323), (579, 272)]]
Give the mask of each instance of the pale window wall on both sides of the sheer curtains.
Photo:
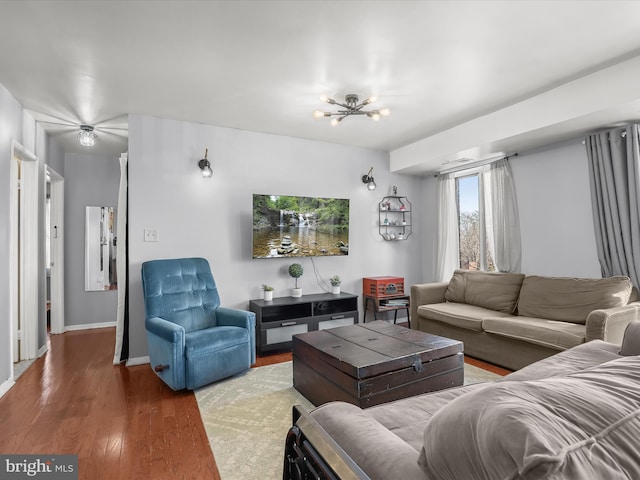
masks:
[[(601, 277), (582, 138), (520, 153), (510, 163), (520, 214), (522, 272)], [(426, 212), (423, 279), (431, 282), (436, 271), (436, 179), (424, 178), (422, 188)]]

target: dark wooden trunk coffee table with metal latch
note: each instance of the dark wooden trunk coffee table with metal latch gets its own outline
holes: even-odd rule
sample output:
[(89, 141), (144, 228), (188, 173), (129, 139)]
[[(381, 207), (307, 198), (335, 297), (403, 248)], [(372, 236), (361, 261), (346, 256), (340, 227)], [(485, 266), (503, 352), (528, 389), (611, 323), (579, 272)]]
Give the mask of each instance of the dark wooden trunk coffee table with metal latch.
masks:
[(293, 386), (361, 408), (460, 386), (463, 344), (378, 320), (293, 336)]

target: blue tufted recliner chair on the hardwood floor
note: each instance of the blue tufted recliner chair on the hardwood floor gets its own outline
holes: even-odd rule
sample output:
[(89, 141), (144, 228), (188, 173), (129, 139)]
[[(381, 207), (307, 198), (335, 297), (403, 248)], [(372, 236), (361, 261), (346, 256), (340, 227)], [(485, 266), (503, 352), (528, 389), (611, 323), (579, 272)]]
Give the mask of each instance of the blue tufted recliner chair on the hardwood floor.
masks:
[(194, 390), (256, 361), (252, 312), (220, 306), (204, 258), (142, 264), (151, 368), (172, 389)]

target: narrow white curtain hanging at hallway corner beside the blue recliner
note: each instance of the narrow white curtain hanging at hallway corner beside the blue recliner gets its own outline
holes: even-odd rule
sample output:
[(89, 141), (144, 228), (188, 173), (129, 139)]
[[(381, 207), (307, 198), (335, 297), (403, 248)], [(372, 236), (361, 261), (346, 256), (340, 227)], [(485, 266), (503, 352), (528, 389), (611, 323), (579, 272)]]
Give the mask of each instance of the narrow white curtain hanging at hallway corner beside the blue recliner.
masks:
[[(118, 191), (118, 213), (116, 216), (116, 272), (118, 272), (118, 309), (116, 311), (116, 348), (114, 365), (126, 360), (122, 358), (124, 332), (127, 323), (127, 162), (128, 154), (120, 155), (120, 189)], [(126, 349), (128, 350), (128, 349)]]

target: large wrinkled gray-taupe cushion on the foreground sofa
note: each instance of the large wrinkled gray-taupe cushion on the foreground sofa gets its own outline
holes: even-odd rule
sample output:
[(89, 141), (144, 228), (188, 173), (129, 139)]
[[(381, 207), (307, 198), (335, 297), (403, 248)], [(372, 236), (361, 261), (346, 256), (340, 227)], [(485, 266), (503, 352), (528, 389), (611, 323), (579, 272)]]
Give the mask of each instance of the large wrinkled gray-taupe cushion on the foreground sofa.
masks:
[(425, 425), (428, 478), (640, 478), (640, 357), (530, 381), (490, 383)]

